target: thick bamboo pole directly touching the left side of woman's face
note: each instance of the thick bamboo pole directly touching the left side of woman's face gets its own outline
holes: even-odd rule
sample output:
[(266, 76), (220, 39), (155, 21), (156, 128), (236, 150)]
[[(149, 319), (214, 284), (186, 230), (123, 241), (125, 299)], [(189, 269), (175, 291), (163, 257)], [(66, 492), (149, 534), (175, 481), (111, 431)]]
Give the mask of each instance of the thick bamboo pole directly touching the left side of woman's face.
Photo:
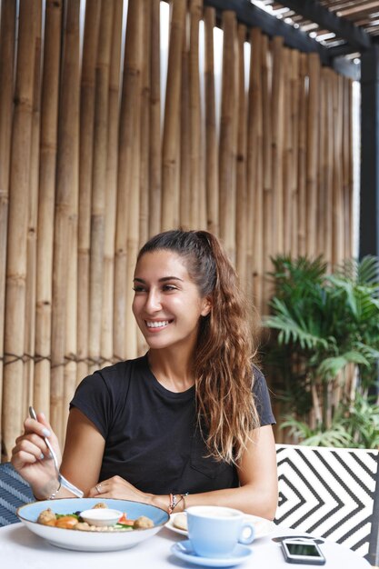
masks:
[[(129, 318), (128, 301), (132, 281), (128, 266), (132, 263), (133, 238), (138, 243), (139, 231), (130, 233), (129, 224), (135, 220), (138, 207), (135, 196), (135, 138), (139, 135), (140, 125), (136, 125), (136, 116), (139, 117), (140, 102), (140, 73), (141, 53), (139, 49), (142, 35), (141, 5), (132, 0), (128, 5), (126, 37), (125, 37), (125, 64), (123, 92), (120, 112), (120, 132), (118, 151), (118, 180), (117, 180), (117, 209), (115, 234), (115, 307), (114, 307), (114, 344), (117, 357), (125, 359), (126, 354), (136, 352), (136, 334), (134, 319)], [(139, 35), (138, 35), (139, 34)], [(139, 118), (138, 118), (139, 120)], [(138, 142), (139, 144), (139, 142)], [(133, 203), (132, 203), (133, 202)], [(137, 245), (136, 245), (137, 246)], [(136, 248), (136, 247), (135, 247)], [(129, 344), (129, 341), (131, 344)]]

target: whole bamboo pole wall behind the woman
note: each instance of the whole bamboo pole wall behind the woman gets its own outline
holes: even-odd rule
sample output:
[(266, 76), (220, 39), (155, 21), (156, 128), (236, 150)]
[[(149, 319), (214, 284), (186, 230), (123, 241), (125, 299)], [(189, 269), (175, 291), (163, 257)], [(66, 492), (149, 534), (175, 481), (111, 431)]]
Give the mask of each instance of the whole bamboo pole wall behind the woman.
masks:
[(4, 456), (28, 404), (63, 440), (77, 382), (145, 349), (130, 305), (148, 236), (219, 235), (261, 313), (270, 255), (351, 255), (351, 82), (224, 12), (217, 112), (214, 9), (175, 0), (163, 101), (159, 4), (129, 0), (122, 37), (123, 1), (87, 0), (81, 50), (78, 0), (23, 0), (17, 19), (1, 0)]

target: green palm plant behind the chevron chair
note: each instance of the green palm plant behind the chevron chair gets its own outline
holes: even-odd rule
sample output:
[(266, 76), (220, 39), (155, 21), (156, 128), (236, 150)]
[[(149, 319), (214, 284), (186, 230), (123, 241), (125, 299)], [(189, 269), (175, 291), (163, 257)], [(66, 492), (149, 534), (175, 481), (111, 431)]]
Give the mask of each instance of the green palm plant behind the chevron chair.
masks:
[[(354, 444), (356, 436), (344, 434), (344, 419), (353, 421), (354, 394), (367, 397), (378, 374), (379, 259), (349, 260), (330, 275), (322, 257), (278, 255), (273, 264), (275, 294), (264, 325), (276, 331), (268, 361), (276, 368), (284, 408), (292, 413), (284, 426), (313, 444), (330, 437), (335, 445)], [(348, 380), (353, 384), (346, 385)], [(304, 421), (310, 411), (312, 429)]]

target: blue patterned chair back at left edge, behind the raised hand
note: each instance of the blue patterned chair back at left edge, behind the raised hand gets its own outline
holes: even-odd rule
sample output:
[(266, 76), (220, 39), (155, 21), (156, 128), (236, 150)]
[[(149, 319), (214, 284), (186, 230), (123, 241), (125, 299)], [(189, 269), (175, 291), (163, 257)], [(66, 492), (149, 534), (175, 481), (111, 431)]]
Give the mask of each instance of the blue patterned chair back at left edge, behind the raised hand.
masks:
[(35, 502), (32, 490), (10, 463), (0, 464), (0, 526), (19, 521), (18, 506)]

